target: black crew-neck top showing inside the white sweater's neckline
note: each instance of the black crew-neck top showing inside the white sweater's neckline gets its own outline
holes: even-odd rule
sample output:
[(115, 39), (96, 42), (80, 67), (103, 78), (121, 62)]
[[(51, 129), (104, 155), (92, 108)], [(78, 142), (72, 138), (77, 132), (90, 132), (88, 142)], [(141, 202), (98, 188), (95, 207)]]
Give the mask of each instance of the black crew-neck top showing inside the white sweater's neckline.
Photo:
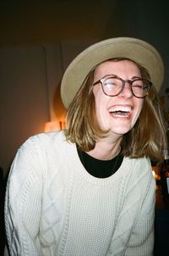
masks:
[(81, 163), (84, 165), (90, 175), (97, 178), (107, 178), (113, 175), (123, 162), (123, 155), (119, 153), (110, 160), (100, 160), (91, 157), (88, 153), (81, 151), (78, 147), (78, 154)]

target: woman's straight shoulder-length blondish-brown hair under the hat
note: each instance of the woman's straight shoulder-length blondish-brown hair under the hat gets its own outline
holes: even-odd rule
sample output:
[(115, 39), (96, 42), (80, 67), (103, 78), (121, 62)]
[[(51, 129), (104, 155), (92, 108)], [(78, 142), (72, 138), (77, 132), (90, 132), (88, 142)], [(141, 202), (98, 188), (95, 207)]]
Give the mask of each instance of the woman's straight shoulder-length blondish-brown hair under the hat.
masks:
[[(112, 58), (111, 61), (121, 61), (128, 58)], [(128, 59), (133, 61), (131, 59)], [(134, 61), (133, 61), (134, 62)], [(148, 70), (135, 63), (143, 79), (150, 80)], [(67, 115), (67, 140), (74, 142), (86, 152), (95, 147), (95, 142), (105, 137), (108, 131), (102, 131), (95, 114), (95, 97), (93, 81), (95, 69), (85, 79), (83, 85), (70, 104)], [(163, 125), (160, 99), (151, 86), (149, 95), (144, 98), (143, 108), (134, 127), (123, 135), (121, 153), (129, 158), (149, 157), (152, 161), (162, 161), (162, 150), (165, 148), (166, 131)]]

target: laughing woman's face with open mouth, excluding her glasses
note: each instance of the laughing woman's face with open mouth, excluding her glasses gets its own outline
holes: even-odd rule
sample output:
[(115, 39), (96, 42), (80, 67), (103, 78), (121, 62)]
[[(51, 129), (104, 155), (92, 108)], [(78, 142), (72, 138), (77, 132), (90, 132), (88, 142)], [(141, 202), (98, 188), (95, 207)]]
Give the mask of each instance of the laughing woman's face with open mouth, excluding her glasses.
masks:
[[(106, 61), (95, 69), (94, 83), (105, 75), (117, 75), (123, 80), (141, 78), (139, 68), (130, 60)], [(144, 99), (134, 97), (131, 87), (125, 84), (123, 92), (115, 97), (107, 96), (101, 83), (93, 87), (95, 109), (102, 130), (110, 130), (109, 135), (122, 136), (130, 131), (138, 120)]]

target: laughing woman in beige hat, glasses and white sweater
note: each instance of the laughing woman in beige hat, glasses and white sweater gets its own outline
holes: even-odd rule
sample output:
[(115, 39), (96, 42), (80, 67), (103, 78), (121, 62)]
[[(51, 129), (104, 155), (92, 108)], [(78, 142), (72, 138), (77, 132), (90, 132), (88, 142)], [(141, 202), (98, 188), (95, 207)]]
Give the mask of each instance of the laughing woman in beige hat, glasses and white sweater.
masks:
[(74, 59), (61, 86), (67, 129), (30, 137), (11, 167), (10, 255), (152, 255), (162, 81), (160, 54), (139, 39), (98, 42)]

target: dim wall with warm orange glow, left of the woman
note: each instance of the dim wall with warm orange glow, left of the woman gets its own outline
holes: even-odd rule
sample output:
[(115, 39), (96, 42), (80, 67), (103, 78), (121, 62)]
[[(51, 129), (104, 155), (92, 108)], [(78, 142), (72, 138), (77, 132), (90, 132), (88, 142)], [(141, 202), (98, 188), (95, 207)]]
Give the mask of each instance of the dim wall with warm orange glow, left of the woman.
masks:
[(4, 175), (25, 139), (44, 131), (46, 122), (63, 120), (63, 71), (90, 43), (0, 48), (0, 166)]

